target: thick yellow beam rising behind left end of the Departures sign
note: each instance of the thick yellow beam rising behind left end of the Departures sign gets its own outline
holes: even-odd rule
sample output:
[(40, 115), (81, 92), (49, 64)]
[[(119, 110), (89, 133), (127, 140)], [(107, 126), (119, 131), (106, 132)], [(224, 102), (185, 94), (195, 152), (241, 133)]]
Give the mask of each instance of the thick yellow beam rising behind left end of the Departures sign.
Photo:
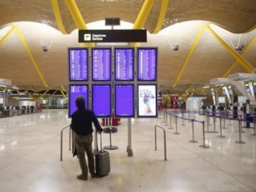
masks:
[[(87, 26), (85, 24), (85, 21), (83, 20), (82, 14), (80, 13), (79, 8), (77, 7), (77, 4), (75, 4), (74, 0), (65, 0), (67, 7), (69, 8), (70, 14), (72, 15), (72, 18), (75, 22), (75, 26), (79, 30), (87, 30)], [(81, 43), (83, 46), (93, 47), (95, 46), (94, 43)]]

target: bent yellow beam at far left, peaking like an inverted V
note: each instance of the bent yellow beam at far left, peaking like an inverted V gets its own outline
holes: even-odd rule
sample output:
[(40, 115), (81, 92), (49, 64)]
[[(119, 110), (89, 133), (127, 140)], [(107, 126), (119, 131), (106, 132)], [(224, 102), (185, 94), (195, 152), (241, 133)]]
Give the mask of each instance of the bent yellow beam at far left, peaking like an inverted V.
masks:
[(7, 40), (7, 38), (12, 34), (14, 33), (14, 31), (17, 32), (17, 34), (19, 35), (19, 38), (20, 40), (22, 41), (22, 44), (25, 48), (25, 50), (27, 51), (27, 54), (28, 56), (30, 57), (35, 69), (36, 69), (36, 72), (38, 73), (41, 81), (43, 82), (43, 85), (45, 85), (47, 88), (49, 88), (49, 86), (47, 85), (46, 83), (46, 80), (45, 80), (45, 77), (43, 77), (43, 74), (41, 73), (41, 70), (39, 69), (38, 67), (38, 64), (36, 63), (35, 61), (35, 57), (33, 56), (32, 52), (30, 51), (30, 48), (28, 47), (28, 44), (27, 42), (25, 41), (25, 38), (23, 37), (22, 35), (22, 32), (19, 30), (19, 28), (15, 27), (12, 25), (12, 29), (4, 36), (4, 38), (2, 38), (2, 40), (0, 41), (0, 46), (2, 45), (2, 43), (4, 43), (4, 41)]

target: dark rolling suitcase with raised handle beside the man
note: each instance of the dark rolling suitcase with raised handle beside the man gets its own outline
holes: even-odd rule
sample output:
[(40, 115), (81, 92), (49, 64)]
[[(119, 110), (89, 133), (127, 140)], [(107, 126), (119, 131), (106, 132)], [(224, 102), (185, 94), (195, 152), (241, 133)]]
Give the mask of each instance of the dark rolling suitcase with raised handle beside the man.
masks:
[(108, 173), (110, 172), (109, 152), (102, 149), (101, 135), (100, 135), (100, 151), (98, 151), (97, 134), (96, 134), (96, 144), (97, 144), (97, 153), (95, 155), (96, 176), (103, 177), (105, 175), (108, 175)]

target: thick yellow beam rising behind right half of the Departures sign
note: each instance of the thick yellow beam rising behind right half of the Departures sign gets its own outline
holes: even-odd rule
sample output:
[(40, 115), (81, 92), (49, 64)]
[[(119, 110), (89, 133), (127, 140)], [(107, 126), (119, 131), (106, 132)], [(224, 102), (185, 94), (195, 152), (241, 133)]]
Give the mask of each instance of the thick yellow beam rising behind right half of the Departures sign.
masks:
[[(66, 0), (67, 1), (67, 0)], [(134, 27), (132, 27), (133, 30), (139, 30), (144, 27), (144, 24), (148, 18), (148, 15), (150, 13), (150, 10), (154, 4), (154, 0), (145, 0), (142, 9), (140, 9), (139, 15), (137, 19), (134, 22)], [(138, 43), (131, 43), (130, 46), (137, 46), (139, 45)]]

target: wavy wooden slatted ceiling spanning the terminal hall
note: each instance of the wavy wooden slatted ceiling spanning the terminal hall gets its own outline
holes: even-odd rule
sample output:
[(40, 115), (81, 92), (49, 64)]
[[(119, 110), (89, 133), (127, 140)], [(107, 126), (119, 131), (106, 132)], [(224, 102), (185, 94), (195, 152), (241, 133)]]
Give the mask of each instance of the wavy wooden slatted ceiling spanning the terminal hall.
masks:
[[(67, 35), (59, 31), (52, 4), (54, 1), (58, 2)], [(74, 2), (85, 23), (104, 20), (106, 17), (120, 17), (124, 22), (135, 23), (145, 1), (76, 0)], [(205, 85), (211, 78), (223, 77), (236, 62), (234, 56), (216, 40), (215, 36), (211, 35), (209, 30), (203, 31), (195, 45), (198, 33), (208, 24), (228, 46), (231, 46), (231, 42), (236, 45), (240, 38), (240, 43), (244, 44), (245, 48), (237, 54), (242, 55), (248, 64), (256, 68), (255, 0), (170, 0), (161, 30), (153, 34), (163, 2), (166, 1), (153, 2), (143, 25), (143, 28), (148, 30), (148, 42), (141, 44), (141, 46), (158, 46), (159, 48), (158, 85), (163, 88), (176, 85), (175, 88), (179, 91), (190, 84)], [(25, 21), (37, 24), (23, 23)], [(48, 52), (42, 51), (39, 42), (42, 31), (38, 23), (43, 22), (47, 22), (49, 26), (56, 29), (48, 28), (50, 33), (54, 34), (53, 46)], [(0, 30), (0, 78), (9, 78), (14, 85), (26, 89), (33, 88), (36, 91), (46, 90), (45, 84), (52, 89), (58, 89), (61, 85), (66, 87), (69, 83), (67, 48), (79, 46), (77, 27), (66, 1), (1, 0), (0, 29), (8, 25), (14, 26), (15, 30), (5, 41), (1, 40)], [(30, 48), (45, 83), (38, 75), (31, 57), (28, 56), (18, 30)], [(177, 38), (181, 40), (181, 44), (178, 51), (173, 51), (170, 43), (175, 44)], [(193, 46), (195, 46), (194, 52), (190, 52)], [(247, 46), (250, 48), (246, 49)], [(189, 54), (191, 57), (188, 59)], [(181, 72), (186, 59), (188, 59), (187, 65)], [(229, 73), (237, 72), (248, 71), (238, 63)]]

